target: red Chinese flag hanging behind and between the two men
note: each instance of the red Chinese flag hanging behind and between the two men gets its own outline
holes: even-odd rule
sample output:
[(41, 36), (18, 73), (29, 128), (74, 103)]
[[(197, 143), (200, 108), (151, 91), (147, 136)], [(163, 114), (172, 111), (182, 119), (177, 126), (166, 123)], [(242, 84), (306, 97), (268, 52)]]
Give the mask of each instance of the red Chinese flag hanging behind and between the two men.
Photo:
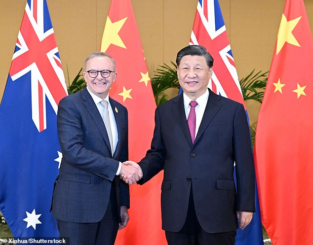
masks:
[[(116, 61), (117, 80), (110, 97), (128, 109), (129, 160), (139, 162), (150, 149), (156, 102), (130, 0), (112, 0), (101, 51)], [(162, 173), (143, 186), (130, 186), (130, 220), (116, 245), (165, 245), (161, 229)]]

